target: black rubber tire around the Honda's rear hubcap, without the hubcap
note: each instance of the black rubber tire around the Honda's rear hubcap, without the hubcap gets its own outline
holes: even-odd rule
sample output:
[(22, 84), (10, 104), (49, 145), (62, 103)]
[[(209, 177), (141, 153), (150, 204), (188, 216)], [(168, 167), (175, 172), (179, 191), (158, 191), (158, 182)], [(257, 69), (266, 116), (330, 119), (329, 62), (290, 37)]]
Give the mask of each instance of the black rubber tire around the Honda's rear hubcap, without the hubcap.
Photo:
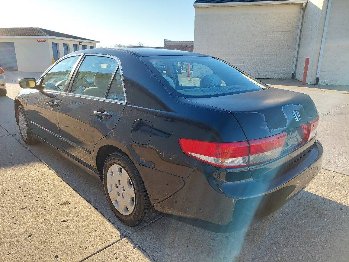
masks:
[[(121, 214), (115, 208), (108, 193), (106, 176), (107, 171), (113, 164), (117, 164), (123, 167), (127, 171), (129, 177), (132, 180), (132, 184), (134, 185), (136, 198), (135, 207), (132, 213), (129, 215)], [(103, 166), (103, 185), (104, 192), (110, 205), (110, 208), (113, 210), (114, 214), (116, 214), (118, 219), (122, 221), (124, 224), (128, 226), (137, 226), (141, 222), (147, 223), (148, 221), (153, 219), (155, 212), (153, 205), (151, 205), (150, 203), (146, 187), (134, 163), (131, 161), (131, 159), (127, 157), (127, 155), (120, 152), (114, 152), (108, 155)]]

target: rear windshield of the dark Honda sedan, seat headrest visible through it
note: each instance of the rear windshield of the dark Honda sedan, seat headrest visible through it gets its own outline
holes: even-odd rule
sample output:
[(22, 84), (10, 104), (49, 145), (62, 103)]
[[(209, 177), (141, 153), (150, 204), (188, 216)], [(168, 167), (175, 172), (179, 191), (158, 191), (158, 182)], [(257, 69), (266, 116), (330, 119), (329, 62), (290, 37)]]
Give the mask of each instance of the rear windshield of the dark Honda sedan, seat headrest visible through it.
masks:
[(143, 57), (158, 79), (185, 97), (213, 97), (267, 88), (263, 83), (213, 57)]

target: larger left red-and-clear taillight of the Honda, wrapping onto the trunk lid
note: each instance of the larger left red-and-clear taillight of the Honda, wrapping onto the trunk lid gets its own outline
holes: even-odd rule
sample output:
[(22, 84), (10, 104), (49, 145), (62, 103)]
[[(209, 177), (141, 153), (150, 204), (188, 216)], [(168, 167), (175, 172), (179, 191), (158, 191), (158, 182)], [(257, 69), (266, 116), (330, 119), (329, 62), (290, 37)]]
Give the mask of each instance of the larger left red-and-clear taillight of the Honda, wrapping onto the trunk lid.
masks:
[(190, 157), (216, 167), (233, 168), (246, 167), (279, 157), (285, 140), (286, 132), (272, 137), (231, 143), (181, 138), (179, 145)]

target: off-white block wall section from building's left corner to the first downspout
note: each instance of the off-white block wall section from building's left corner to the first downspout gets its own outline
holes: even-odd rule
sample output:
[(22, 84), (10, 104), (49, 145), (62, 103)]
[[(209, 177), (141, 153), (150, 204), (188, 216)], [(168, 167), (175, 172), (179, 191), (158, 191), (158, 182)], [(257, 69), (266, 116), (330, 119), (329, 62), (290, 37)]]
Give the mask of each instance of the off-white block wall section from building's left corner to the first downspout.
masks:
[(196, 7), (194, 52), (257, 78), (291, 78), (301, 7)]

